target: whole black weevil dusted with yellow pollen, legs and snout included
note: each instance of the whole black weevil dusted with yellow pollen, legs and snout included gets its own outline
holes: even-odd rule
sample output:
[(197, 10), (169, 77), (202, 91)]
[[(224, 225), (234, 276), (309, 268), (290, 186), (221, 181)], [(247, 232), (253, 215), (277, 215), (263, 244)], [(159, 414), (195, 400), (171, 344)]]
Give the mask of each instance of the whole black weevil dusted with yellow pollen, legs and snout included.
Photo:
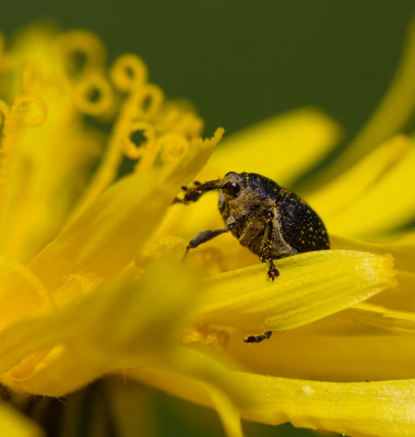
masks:
[[(218, 210), (226, 227), (202, 231), (187, 246), (190, 249), (230, 232), (239, 244), (269, 262), (271, 281), (280, 275), (274, 260), (296, 253), (330, 249), (325, 226), (317, 213), (297, 194), (280, 187), (273, 180), (254, 173), (227, 173), (222, 179), (205, 184), (194, 182), (193, 188), (182, 187), (185, 197), (177, 202), (195, 202), (205, 192), (218, 189)], [(246, 342), (269, 339), (249, 335)]]

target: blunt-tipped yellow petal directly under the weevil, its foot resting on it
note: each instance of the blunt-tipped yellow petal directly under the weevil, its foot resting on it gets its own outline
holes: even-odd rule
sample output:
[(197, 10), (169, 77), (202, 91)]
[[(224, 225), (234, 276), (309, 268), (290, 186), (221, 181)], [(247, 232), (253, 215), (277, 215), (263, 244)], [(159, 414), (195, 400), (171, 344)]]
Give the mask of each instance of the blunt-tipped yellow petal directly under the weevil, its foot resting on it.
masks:
[(256, 331), (292, 329), (355, 305), (393, 285), (391, 257), (315, 251), (277, 261), (281, 275), (266, 279), (251, 265), (208, 280), (195, 317)]

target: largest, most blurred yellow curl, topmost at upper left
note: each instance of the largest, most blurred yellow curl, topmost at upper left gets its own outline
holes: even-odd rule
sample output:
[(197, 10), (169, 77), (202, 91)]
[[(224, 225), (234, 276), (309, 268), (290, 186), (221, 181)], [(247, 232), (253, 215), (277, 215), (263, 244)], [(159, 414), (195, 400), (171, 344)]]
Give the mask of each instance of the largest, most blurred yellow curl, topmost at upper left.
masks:
[(61, 51), (69, 75), (100, 69), (106, 59), (102, 42), (87, 31), (71, 31), (61, 37)]

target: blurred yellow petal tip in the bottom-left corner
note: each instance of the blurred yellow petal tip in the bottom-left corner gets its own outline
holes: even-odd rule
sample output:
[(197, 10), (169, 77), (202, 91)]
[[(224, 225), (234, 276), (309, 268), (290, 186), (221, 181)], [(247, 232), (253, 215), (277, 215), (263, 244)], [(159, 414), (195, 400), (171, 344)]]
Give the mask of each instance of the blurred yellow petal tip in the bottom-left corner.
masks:
[(7, 403), (0, 403), (0, 430), (7, 437), (42, 437), (43, 430)]

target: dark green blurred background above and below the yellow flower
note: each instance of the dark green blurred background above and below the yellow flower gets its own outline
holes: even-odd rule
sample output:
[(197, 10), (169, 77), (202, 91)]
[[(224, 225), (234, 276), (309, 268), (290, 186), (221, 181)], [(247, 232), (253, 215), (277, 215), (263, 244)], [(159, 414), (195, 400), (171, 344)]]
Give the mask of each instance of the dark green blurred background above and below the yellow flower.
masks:
[[(2, 4), (0, 32), (10, 38), (37, 21), (91, 29), (109, 60), (135, 52), (168, 97), (193, 102), (208, 135), (218, 126), (232, 133), (311, 105), (343, 125), (345, 144), (390, 84), (413, 17), (413, 0), (13, 0)], [(97, 382), (49, 405), (56, 418), (64, 417), (64, 427), (51, 426), (50, 435), (118, 435), (106, 425), (103, 391)], [(149, 434), (141, 409), (131, 435), (224, 436), (211, 411), (146, 388), (124, 395), (131, 414), (146, 408)], [(248, 436), (315, 435), (288, 425), (245, 429)]]

